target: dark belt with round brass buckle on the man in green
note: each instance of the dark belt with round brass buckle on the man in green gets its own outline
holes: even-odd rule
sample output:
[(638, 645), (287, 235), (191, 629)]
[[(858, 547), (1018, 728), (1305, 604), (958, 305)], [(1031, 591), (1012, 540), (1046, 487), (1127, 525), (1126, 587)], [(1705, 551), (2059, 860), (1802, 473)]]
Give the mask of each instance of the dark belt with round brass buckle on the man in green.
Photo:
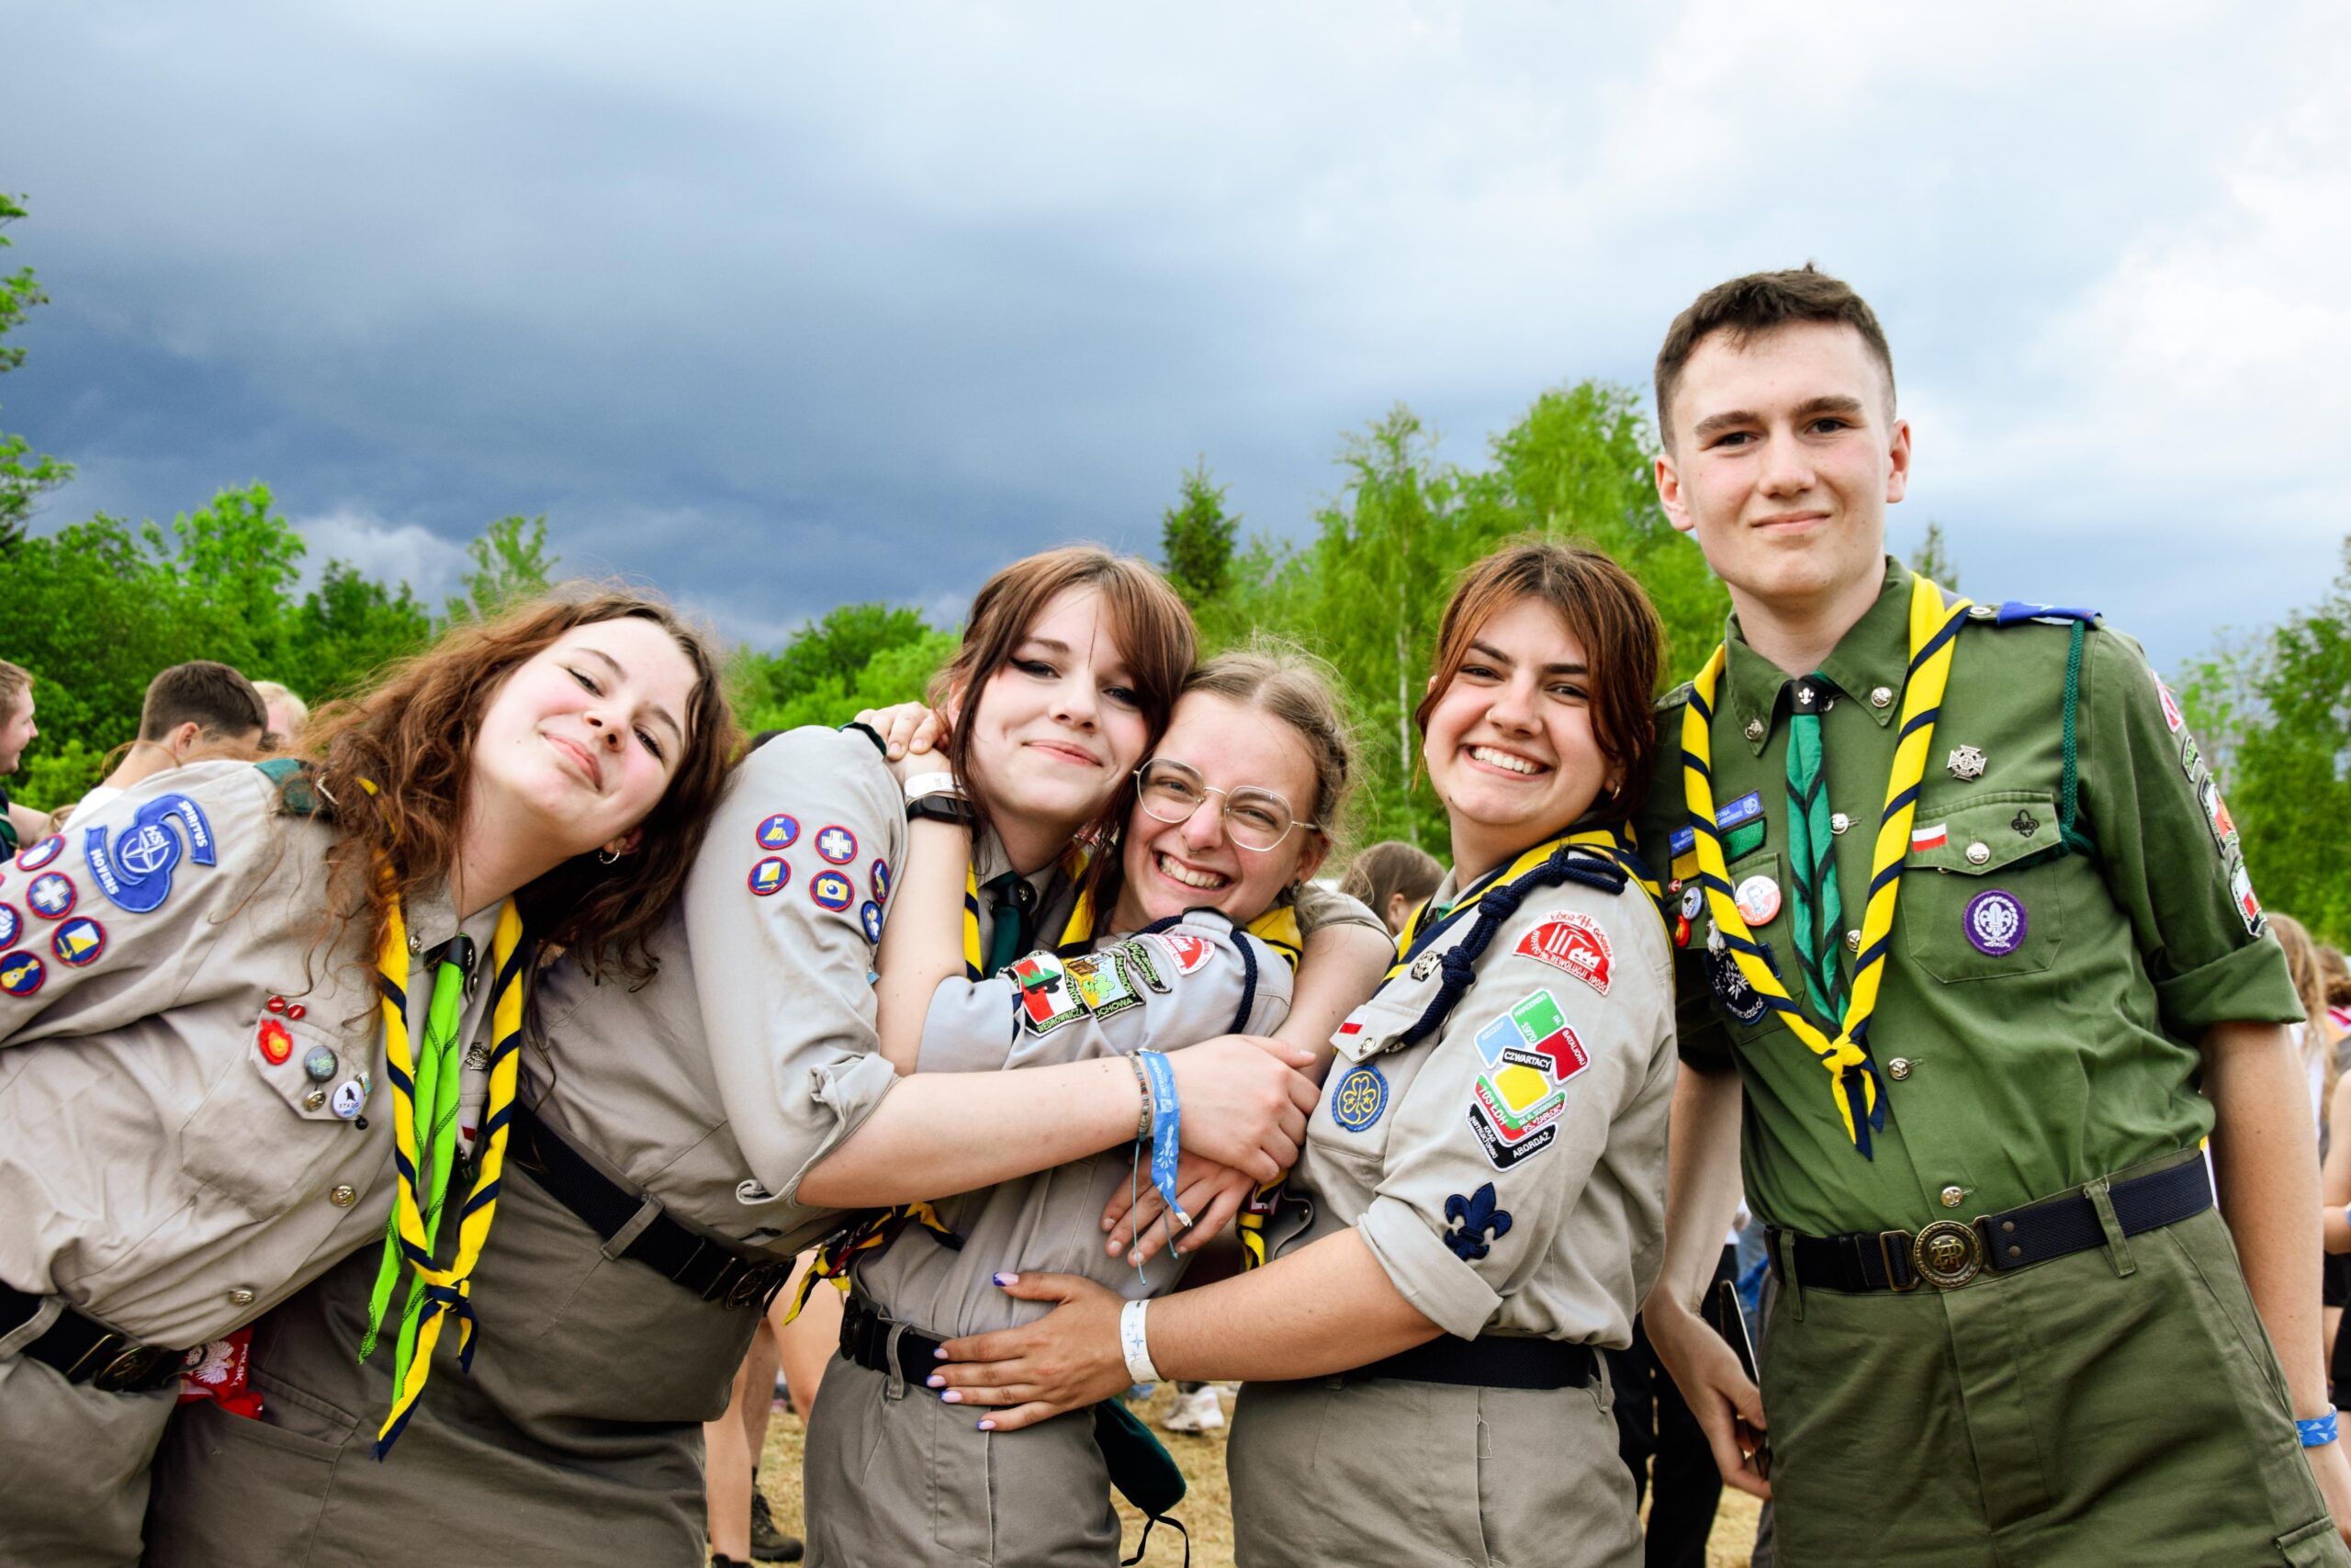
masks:
[[(2114, 1218), (2123, 1234), (2137, 1237), (2210, 1208), (2212, 1180), (2205, 1175), (2203, 1159), (2184, 1159), (2177, 1166), (2114, 1182), (2106, 1190), (2106, 1201), (2114, 1204)], [(2005, 1274), (2104, 1246), (2106, 1227), (2099, 1225), (2090, 1197), (2076, 1187), (2005, 1213), (1935, 1220), (1918, 1232), (1799, 1237), (1773, 1229), (1775, 1267), (1782, 1237), (1794, 1248), (1796, 1279), (1806, 1288), (1820, 1286), (1860, 1295), (1867, 1291), (1916, 1291), (1921, 1284), (1956, 1291), (1984, 1269)]]

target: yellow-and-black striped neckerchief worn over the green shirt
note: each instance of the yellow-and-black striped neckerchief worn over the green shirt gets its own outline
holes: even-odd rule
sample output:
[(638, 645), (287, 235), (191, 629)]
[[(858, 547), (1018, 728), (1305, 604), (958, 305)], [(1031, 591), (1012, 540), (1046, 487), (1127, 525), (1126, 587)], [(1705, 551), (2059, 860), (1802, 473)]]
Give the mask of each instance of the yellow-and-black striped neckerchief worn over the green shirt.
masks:
[(1886, 971), (1886, 938), (1895, 926), (1895, 893), (1902, 889), (1902, 860), (1909, 856), (1909, 827), (1918, 811), (1918, 783), (1925, 778), (1925, 752), (1935, 738), (1935, 715), (1951, 679), (1951, 651), (1965, 623), (1968, 599), (1942, 602), (1942, 590), (1923, 576), (1911, 576), (1909, 675), (1902, 689), (1902, 722), (1895, 729), (1895, 766), (1886, 778), (1886, 811), (1878, 816), (1878, 842), (1869, 858), (1869, 907), (1862, 914), (1862, 947), (1853, 966), (1853, 1001), (1836, 1039), (1822, 1034), (1789, 999), (1780, 976), (1763, 961), (1754, 931), (1740, 917), (1723, 865), (1723, 844), (1714, 827), (1714, 691), (1730, 663), (1730, 646), (1716, 646), (1714, 658), (1690, 682), (1690, 701), (1681, 715), (1681, 788), (1697, 832), (1697, 886), (1723, 936), (1723, 947), (1740, 966), (1747, 985), (1780, 1013), (1789, 1032), (1829, 1070), (1836, 1114), (1846, 1138), (1869, 1159), (1869, 1128), (1886, 1126), (1878, 1107), (1876, 1065), (1869, 1060), (1869, 1016), (1878, 1006), (1878, 980)]

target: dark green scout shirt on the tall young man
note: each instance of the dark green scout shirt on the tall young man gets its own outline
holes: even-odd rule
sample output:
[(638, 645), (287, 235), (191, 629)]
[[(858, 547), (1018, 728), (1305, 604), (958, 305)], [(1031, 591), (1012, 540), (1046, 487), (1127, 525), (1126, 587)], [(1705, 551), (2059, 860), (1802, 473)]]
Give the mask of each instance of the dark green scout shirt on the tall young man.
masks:
[[(1876, 604), (1822, 663), (1843, 693), (1822, 715), (1822, 766), (1831, 809), (1853, 820), (1834, 839), (1853, 929), (1895, 757), (1909, 583), (1911, 574), (1888, 559)], [(2278, 945), (2262, 940), (2219, 785), (2139, 644), (2104, 628), (2085, 632), (2076, 705), (2076, 832), (2095, 851), (2062, 849), (2071, 628), (2055, 618), (1996, 625), (1987, 607), (1961, 628), (1914, 823), (1925, 837), (1914, 835), (1902, 870), (1867, 1034), (1886, 1105), (1871, 1159), (1846, 1138), (1829, 1072), (1777, 1013), (1737, 1023), (1726, 1011), (1709, 985), (1707, 917), (1693, 922), (1679, 954), (1681, 1056), (1709, 1070), (1737, 1065), (1747, 1197), (1773, 1225), (1808, 1234), (1916, 1229), (2196, 1147), (2212, 1126), (2212, 1107), (2196, 1093), (2203, 1032), (2302, 1016)], [(1712, 731), (1714, 804), (1721, 811), (1759, 790), (1766, 823), (1763, 844), (1728, 863), (1730, 884), (1761, 872), (1787, 893), (1791, 682), (1747, 646), (1737, 616), (1728, 642)], [(1657, 776), (1643, 809), (1641, 844), (1660, 867), (1672, 860), (1667, 835), (1688, 820), (1686, 693), (1660, 703)], [(1949, 757), (1961, 745), (1982, 752), (1977, 778), (1956, 776)], [(1930, 846), (1935, 827), (1942, 842)], [(1994, 926), (1987, 950), (1970, 938), (1968, 912), (1994, 889), (2022, 907), (2024, 926)], [(1808, 1006), (1794, 898), (1780, 905), (1756, 938)], [(2012, 945), (2001, 950), (2003, 940)], [(1850, 987), (1850, 945), (1838, 961)]]

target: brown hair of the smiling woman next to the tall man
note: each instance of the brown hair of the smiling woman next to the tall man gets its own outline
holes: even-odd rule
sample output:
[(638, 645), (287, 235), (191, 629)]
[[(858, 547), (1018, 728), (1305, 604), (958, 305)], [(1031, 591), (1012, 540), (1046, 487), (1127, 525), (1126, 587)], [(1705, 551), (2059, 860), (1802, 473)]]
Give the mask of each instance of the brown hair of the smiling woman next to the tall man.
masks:
[[(1650, 696), (1665, 670), (1665, 625), (1657, 609), (1622, 567), (1589, 545), (1531, 538), (1502, 545), (1462, 571), (1436, 628), (1436, 679), (1413, 710), (1420, 736), (1444, 698), (1479, 630), (1519, 599), (1540, 599), (1568, 623), (1592, 665), (1592, 738), (1601, 757), (1622, 776), (1615, 790), (1592, 802), (1589, 820), (1625, 823), (1648, 790), (1657, 752)], [(1566, 825), (1566, 823), (1561, 823)]]

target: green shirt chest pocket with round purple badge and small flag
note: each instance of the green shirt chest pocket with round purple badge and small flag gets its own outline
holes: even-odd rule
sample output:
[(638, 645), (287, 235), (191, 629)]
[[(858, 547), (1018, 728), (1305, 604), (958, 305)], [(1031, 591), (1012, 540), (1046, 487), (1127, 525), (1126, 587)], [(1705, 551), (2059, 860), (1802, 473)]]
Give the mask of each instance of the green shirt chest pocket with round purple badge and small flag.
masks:
[(1902, 870), (1902, 940), (1944, 983), (2038, 973), (2064, 940), (2057, 797), (1996, 790), (1918, 806)]

